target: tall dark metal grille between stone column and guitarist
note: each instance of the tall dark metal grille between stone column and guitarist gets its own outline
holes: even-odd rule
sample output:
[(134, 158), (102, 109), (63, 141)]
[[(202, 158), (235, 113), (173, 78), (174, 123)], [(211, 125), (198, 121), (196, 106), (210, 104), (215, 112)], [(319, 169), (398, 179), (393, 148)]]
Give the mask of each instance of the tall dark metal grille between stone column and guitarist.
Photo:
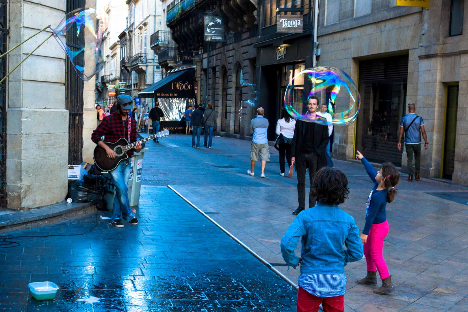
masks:
[[(86, 6), (86, 0), (67, 0), (66, 13)], [(73, 26), (76, 27), (76, 26)], [(80, 36), (73, 36), (76, 31), (68, 31), (66, 45), (73, 49), (80, 49), (80, 42), (84, 40), (84, 31)], [(84, 66), (82, 53), (76, 58), (78, 65)], [(75, 60), (76, 60), (75, 58)], [(70, 60), (65, 60), (65, 109), (68, 110), (68, 164), (78, 165), (83, 161), (83, 87), (84, 82), (75, 72)]]

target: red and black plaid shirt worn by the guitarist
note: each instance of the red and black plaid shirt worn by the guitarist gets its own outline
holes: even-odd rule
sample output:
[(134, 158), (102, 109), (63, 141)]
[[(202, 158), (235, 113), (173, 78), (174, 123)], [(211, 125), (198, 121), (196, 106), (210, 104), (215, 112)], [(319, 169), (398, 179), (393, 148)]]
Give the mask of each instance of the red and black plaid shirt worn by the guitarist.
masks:
[[(122, 117), (118, 112), (112, 113), (109, 116), (104, 117), (102, 122), (97, 126), (96, 130), (93, 131), (91, 139), (94, 143), (102, 141), (101, 137), (105, 136), (105, 140), (110, 143), (115, 143), (120, 138), (128, 140), (128, 121), (132, 122), (132, 128), (130, 131), (130, 142), (137, 141), (137, 121), (133, 120), (128, 116), (127, 120), (123, 121)], [(127, 155), (130, 157), (133, 155), (133, 148), (127, 151)]]

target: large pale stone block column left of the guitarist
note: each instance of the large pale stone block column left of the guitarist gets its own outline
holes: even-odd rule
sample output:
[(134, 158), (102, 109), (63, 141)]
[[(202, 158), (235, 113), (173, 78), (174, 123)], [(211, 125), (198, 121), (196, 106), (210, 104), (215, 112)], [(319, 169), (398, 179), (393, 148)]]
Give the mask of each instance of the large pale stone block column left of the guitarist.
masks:
[[(65, 0), (8, 1), (8, 46), (65, 16)], [(8, 57), (8, 71), (40, 44), (44, 31)], [(7, 83), (7, 201), (22, 210), (63, 201), (67, 193), (68, 111), (65, 52), (51, 37)]]

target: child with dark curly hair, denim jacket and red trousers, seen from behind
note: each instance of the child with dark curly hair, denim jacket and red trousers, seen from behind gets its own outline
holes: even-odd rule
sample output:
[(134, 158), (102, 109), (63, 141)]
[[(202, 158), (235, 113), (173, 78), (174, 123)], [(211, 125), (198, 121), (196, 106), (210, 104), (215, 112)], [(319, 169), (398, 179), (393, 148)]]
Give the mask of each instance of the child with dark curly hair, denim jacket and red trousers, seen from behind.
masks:
[[(281, 253), (288, 268), (300, 264), (298, 312), (318, 312), (320, 304), (324, 312), (344, 311), (344, 266), (363, 256), (354, 218), (338, 207), (349, 192), (348, 179), (342, 171), (320, 169), (310, 192), (317, 205), (302, 211), (281, 238)], [(295, 254), (299, 239), (300, 257)]]

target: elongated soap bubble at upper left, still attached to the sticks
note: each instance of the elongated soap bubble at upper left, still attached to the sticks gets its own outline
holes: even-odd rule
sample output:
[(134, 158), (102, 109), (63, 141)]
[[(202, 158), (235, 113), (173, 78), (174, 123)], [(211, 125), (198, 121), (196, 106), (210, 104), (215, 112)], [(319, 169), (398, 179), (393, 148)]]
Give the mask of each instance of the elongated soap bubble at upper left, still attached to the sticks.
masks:
[(82, 7), (65, 15), (59, 26), (52, 29), (76, 73), (85, 81), (99, 73), (104, 64), (102, 29), (96, 16), (95, 9)]

